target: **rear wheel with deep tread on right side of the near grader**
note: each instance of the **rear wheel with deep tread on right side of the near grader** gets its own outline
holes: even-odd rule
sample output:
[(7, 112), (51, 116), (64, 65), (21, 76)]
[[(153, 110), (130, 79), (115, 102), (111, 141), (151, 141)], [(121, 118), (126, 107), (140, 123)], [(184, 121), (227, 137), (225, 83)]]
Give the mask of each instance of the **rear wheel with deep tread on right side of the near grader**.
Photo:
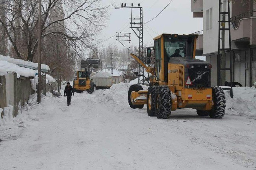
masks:
[(214, 119), (222, 119), (225, 114), (226, 99), (225, 93), (220, 87), (212, 88), (212, 99), (214, 106), (211, 111), (209, 111), (209, 116)]

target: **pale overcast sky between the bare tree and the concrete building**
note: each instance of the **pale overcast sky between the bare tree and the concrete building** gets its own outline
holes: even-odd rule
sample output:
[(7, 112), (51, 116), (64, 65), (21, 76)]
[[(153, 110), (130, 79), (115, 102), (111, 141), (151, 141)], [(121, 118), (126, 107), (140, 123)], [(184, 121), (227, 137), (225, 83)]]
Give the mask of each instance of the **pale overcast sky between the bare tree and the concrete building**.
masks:
[[(170, 0), (103, 0), (105, 4), (114, 4), (121, 6), (121, 3), (126, 3), (126, 6), (138, 6), (141, 3), (143, 7), (143, 22), (147, 22), (154, 18), (164, 9)], [(138, 46), (139, 39), (130, 29), (130, 8), (120, 8), (109, 10), (109, 19), (107, 26), (102, 30), (100, 38), (107, 39), (116, 34), (116, 32), (131, 32), (131, 43)], [(139, 17), (139, 8), (133, 8), (133, 17)], [(170, 5), (154, 20), (147, 23), (143, 27), (144, 43), (152, 44), (153, 38), (162, 33), (172, 34), (190, 34), (199, 30), (203, 30), (203, 19), (193, 18), (191, 12), (191, 0), (173, 0)], [(110, 38), (100, 47), (106, 47), (108, 44), (122, 45), (116, 41), (116, 37)]]

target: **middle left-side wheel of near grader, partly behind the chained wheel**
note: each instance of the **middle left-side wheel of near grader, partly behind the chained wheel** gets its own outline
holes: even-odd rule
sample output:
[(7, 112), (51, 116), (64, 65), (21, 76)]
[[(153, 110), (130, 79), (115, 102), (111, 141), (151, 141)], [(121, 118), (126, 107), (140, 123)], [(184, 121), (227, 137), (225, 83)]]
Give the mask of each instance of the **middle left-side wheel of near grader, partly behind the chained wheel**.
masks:
[(151, 86), (147, 91), (147, 114), (149, 116), (156, 116), (155, 98), (156, 98), (156, 87)]

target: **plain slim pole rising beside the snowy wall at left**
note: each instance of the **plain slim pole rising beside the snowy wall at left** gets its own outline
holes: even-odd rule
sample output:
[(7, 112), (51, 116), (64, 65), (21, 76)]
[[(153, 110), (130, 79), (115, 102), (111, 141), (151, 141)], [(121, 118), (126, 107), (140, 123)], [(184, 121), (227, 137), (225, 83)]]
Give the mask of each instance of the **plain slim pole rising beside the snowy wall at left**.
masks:
[(42, 1), (38, 0), (38, 85), (37, 85), (37, 102), (41, 103), (41, 37), (42, 37)]

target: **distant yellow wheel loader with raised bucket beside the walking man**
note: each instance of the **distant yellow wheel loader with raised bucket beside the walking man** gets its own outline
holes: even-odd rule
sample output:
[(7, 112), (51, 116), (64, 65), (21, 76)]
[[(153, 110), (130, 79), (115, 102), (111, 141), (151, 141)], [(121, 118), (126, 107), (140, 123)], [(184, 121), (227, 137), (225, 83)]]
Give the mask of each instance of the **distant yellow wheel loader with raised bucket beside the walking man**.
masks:
[(99, 59), (82, 59), (81, 70), (76, 72), (75, 80), (73, 81), (73, 88), (75, 92), (82, 93), (87, 91), (89, 94), (96, 90), (96, 85), (90, 79), (91, 68), (98, 69), (100, 64)]

